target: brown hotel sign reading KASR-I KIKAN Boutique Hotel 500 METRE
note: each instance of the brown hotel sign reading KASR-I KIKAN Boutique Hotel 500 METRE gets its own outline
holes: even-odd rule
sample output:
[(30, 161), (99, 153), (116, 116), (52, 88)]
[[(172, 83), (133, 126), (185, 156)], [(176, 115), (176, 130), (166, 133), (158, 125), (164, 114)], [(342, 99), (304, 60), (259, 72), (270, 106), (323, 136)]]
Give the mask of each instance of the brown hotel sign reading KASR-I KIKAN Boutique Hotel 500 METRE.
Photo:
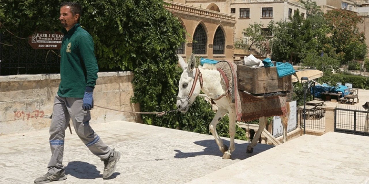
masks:
[(28, 43), (34, 49), (58, 49), (62, 46), (64, 34), (61, 32), (42, 31), (35, 32)]

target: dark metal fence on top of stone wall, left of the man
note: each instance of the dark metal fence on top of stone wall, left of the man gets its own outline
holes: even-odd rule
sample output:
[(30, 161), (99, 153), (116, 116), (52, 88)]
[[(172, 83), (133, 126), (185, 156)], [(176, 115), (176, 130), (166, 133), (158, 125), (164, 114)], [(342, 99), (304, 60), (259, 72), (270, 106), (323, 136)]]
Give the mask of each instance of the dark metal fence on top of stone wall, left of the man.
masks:
[(0, 75), (59, 73), (58, 53), (33, 49), (28, 39), (0, 34)]

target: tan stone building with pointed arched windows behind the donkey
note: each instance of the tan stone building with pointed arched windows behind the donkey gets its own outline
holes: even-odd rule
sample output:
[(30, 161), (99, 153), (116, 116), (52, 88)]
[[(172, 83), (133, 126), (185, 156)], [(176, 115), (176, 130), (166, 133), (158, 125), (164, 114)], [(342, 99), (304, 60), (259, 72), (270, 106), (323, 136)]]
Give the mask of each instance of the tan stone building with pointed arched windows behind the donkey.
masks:
[(184, 4), (184, 0), (165, 1), (165, 8), (177, 16), (186, 30), (186, 42), (177, 49), (182, 57), (196, 56), (233, 60), (234, 15)]

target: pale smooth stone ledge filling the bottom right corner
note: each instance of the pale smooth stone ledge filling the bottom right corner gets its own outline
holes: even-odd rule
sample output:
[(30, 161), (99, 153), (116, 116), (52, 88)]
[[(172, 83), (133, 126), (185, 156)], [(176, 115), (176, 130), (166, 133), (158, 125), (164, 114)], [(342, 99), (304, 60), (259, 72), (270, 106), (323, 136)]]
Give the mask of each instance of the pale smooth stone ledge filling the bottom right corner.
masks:
[(303, 135), (189, 183), (369, 183), (368, 141), (337, 132)]

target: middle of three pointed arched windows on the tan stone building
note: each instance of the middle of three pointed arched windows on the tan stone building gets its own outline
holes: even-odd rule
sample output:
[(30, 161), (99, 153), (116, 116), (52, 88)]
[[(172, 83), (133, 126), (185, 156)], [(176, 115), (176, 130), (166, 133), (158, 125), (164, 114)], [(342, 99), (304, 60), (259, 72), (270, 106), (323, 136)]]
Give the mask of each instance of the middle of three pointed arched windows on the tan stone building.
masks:
[(199, 24), (193, 34), (192, 52), (206, 54), (207, 38), (203, 25)]

